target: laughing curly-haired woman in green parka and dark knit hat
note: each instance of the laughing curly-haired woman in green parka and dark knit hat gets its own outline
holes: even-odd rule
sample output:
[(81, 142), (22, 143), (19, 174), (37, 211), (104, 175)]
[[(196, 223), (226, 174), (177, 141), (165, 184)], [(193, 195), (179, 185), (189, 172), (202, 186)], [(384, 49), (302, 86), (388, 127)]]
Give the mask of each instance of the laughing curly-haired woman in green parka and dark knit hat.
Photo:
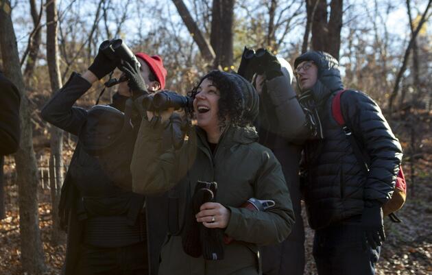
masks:
[[(143, 119), (132, 157), (135, 192), (169, 191), (159, 274), (261, 274), (259, 246), (287, 238), (294, 215), (280, 164), (251, 126), (259, 97), (243, 77), (221, 71), (204, 76), (192, 97), (197, 125), (180, 149), (163, 150), (166, 111), (156, 125)], [(217, 183), (208, 200), (198, 181)], [(244, 208), (250, 198), (274, 206)]]

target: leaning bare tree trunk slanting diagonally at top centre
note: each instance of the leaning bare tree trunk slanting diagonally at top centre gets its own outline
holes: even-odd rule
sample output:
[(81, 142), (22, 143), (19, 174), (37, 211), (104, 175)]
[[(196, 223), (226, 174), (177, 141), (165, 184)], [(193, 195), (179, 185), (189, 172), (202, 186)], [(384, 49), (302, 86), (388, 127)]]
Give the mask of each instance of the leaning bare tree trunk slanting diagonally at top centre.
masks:
[(204, 38), (204, 35), (200, 31), (200, 28), (198, 28), (197, 23), (193, 20), (191, 13), (187, 9), (187, 6), (184, 5), (184, 2), (182, 0), (172, 0), (174, 5), (176, 5), (176, 8), (178, 10), (178, 14), (180, 14), (180, 17), (182, 17), (184, 25), (186, 25), (187, 29), (192, 35), (193, 40), (195, 43), (197, 43), (198, 48), (200, 49), (200, 53), (204, 60), (206, 62), (211, 63), (215, 59), (215, 51), (213, 51), (213, 48), (208, 43), (206, 38)]

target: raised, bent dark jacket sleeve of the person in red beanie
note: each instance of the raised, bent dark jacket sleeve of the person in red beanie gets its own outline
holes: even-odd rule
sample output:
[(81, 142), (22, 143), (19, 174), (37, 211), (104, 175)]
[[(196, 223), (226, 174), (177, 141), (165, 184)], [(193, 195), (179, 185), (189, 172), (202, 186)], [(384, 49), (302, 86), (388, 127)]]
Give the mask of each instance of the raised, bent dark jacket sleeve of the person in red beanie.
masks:
[(40, 116), (58, 128), (77, 135), (86, 121), (87, 110), (75, 107), (91, 84), (78, 73), (72, 73), (69, 80), (60, 88), (40, 111)]

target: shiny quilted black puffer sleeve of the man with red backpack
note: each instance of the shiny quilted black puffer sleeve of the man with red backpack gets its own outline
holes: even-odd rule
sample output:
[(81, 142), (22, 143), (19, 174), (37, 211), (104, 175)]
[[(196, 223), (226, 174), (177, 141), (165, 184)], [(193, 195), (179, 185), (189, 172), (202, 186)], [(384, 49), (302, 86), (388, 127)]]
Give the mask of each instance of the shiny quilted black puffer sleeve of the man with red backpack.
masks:
[(392, 198), (402, 160), (400, 143), (381, 109), (368, 95), (347, 91), (341, 97), (341, 106), (347, 124), (369, 157), (363, 194), (365, 206), (382, 205)]

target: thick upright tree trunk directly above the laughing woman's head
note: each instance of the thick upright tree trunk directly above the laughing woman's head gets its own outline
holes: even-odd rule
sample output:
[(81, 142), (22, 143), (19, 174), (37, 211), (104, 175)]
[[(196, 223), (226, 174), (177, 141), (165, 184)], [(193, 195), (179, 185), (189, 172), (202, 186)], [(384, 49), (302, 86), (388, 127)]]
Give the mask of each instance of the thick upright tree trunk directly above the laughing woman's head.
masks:
[(228, 71), (232, 66), (232, 23), (234, 0), (213, 0), (211, 47), (215, 50), (214, 67)]

